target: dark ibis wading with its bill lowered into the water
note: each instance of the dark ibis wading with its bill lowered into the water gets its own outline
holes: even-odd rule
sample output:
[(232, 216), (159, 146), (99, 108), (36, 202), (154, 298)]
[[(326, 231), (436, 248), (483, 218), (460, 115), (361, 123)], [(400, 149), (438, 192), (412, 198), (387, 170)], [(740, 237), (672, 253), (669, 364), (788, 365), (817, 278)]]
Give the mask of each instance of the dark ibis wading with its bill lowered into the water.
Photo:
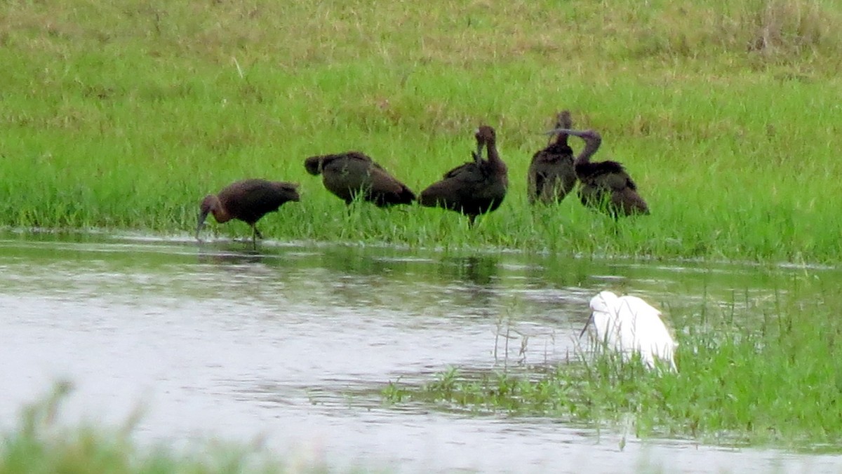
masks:
[(196, 226), (196, 239), (205, 226), (205, 218), (213, 214), (219, 223), (237, 219), (252, 227), (252, 243), (257, 237), (263, 238), (255, 226), (261, 217), (278, 210), (288, 201), (299, 200), (298, 184), (267, 181), (265, 179), (243, 179), (229, 184), (219, 194), (208, 194), (202, 200), (199, 211), (199, 224)]

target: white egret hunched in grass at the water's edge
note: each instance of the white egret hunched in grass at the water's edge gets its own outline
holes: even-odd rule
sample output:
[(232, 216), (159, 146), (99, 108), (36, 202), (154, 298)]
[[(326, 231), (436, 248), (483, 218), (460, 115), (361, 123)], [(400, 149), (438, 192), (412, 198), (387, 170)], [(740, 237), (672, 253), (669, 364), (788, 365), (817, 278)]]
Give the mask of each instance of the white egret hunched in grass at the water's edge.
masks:
[(656, 359), (675, 369), (673, 353), (678, 344), (661, 321), (661, 312), (637, 296), (616, 296), (610, 291), (590, 300), (591, 315), (582, 334), (593, 324), (596, 344), (622, 354), (623, 360), (640, 354), (641, 360), (655, 368)]

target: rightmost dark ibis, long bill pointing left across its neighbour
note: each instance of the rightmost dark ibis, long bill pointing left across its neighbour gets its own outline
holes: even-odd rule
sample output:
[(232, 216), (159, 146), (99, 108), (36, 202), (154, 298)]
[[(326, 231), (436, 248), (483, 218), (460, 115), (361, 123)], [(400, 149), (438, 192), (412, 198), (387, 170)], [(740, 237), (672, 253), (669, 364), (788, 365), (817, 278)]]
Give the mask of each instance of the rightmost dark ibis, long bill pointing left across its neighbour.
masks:
[(637, 194), (637, 184), (619, 162), (590, 162), (600, 149), (602, 137), (595, 130), (556, 129), (548, 133), (567, 133), (584, 140), (584, 149), (576, 157), (576, 177), (582, 183), (579, 199), (582, 204), (606, 210), (611, 216), (648, 214), (649, 206)]

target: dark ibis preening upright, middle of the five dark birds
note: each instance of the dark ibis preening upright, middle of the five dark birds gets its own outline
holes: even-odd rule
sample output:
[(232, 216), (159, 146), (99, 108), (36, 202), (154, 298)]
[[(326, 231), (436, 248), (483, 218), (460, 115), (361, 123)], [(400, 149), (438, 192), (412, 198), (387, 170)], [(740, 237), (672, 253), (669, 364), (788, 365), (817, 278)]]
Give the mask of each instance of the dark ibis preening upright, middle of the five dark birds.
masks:
[[(474, 161), (466, 162), (445, 173), (440, 181), (421, 191), (418, 202), (429, 207), (443, 207), (468, 216), (473, 226), (480, 214), (496, 210), (509, 188), (509, 171), (497, 152), (494, 129), (482, 125), (475, 134), (477, 151)], [(487, 160), (482, 159), (482, 147)]]

